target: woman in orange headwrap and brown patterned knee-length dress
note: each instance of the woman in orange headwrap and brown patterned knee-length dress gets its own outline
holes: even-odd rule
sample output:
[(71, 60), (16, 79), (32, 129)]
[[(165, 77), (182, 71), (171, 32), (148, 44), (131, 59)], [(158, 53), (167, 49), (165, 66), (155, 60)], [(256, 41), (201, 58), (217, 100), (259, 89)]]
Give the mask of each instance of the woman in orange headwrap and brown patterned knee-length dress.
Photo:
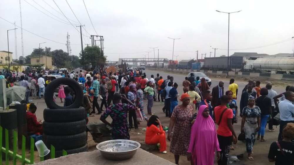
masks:
[[(182, 94), (182, 104), (174, 108), (169, 123), (168, 137), (171, 141), (170, 151), (175, 155), (176, 164), (179, 164), (180, 155), (186, 156), (190, 143), (190, 119), (193, 115), (193, 107), (189, 105), (190, 95)], [(173, 134), (171, 131), (173, 130)]]

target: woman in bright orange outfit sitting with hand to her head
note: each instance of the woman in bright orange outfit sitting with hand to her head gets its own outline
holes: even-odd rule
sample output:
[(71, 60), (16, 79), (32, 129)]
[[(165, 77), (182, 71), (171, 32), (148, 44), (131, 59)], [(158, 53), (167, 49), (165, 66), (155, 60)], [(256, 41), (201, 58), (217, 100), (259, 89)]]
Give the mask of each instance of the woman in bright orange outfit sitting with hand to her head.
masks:
[[(159, 128), (157, 127), (159, 125)], [(146, 129), (146, 137), (145, 142), (148, 145), (153, 144), (160, 144), (159, 151), (163, 154), (167, 154), (166, 152), (166, 135), (165, 132), (161, 126), (160, 120), (158, 116), (152, 115), (149, 118), (149, 121), (147, 123), (147, 129)]]

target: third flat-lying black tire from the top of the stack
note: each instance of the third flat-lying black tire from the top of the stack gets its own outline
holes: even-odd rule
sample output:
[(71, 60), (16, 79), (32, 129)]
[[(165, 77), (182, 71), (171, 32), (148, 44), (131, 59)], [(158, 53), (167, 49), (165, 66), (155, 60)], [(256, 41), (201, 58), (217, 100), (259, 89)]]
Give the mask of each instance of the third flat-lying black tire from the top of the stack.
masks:
[(43, 133), (43, 140), (48, 148), (51, 148), (51, 145), (53, 145), (56, 150), (75, 149), (86, 145), (87, 132), (65, 136), (46, 135)]

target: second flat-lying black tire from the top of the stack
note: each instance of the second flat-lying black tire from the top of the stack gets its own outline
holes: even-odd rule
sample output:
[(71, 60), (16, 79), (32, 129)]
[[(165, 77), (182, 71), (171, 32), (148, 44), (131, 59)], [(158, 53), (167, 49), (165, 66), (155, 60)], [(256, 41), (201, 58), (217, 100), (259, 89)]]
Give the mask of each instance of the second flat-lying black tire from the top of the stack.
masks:
[(75, 135), (86, 131), (86, 120), (67, 123), (43, 122), (43, 130), (46, 135)]

